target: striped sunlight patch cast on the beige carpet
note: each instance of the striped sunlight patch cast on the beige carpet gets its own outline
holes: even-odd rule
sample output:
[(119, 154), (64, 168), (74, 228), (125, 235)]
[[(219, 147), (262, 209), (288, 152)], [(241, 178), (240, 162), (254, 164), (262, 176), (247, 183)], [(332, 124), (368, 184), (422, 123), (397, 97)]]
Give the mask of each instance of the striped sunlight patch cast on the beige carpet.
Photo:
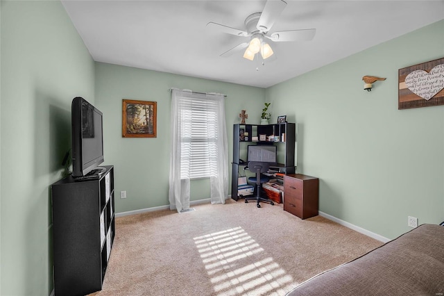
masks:
[(242, 227), (198, 236), (194, 242), (216, 295), (284, 295), (293, 281)]

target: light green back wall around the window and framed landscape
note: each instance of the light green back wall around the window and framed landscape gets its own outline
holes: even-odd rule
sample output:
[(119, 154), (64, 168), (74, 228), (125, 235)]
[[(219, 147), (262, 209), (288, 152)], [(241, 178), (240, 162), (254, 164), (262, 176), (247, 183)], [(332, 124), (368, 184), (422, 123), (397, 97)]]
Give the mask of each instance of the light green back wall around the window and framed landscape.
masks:
[[(232, 124), (239, 123), (240, 111), (247, 110), (248, 123), (259, 123), (265, 99), (263, 88), (96, 63), (96, 107), (104, 114), (105, 163), (114, 165), (117, 212), (169, 204), (170, 88), (220, 92), (228, 96), (225, 113), (229, 162), (232, 161)], [(122, 138), (122, 99), (157, 101), (157, 138)], [(126, 199), (120, 199), (121, 190), (126, 190)], [(191, 201), (209, 197), (209, 181), (191, 182)]]

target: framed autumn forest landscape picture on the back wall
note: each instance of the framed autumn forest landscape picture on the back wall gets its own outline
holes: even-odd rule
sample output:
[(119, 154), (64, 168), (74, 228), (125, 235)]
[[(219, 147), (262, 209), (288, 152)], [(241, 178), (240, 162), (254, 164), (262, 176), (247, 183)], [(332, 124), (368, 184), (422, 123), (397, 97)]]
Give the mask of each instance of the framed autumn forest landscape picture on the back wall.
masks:
[(123, 99), (122, 137), (156, 138), (157, 102)]

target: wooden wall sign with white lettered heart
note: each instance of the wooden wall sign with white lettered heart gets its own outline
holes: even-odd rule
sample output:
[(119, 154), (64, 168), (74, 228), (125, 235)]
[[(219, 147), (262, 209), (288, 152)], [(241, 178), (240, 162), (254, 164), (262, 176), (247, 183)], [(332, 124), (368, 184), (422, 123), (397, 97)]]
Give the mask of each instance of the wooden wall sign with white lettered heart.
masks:
[(399, 69), (398, 110), (444, 105), (444, 58)]

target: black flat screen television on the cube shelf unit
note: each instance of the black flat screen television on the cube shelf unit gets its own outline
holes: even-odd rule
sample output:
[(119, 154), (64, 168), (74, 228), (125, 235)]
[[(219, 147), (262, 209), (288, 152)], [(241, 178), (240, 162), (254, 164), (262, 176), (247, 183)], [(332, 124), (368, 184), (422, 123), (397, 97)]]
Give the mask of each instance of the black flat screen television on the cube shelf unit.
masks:
[(99, 174), (103, 168), (103, 113), (82, 97), (71, 104), (72, 176)]

